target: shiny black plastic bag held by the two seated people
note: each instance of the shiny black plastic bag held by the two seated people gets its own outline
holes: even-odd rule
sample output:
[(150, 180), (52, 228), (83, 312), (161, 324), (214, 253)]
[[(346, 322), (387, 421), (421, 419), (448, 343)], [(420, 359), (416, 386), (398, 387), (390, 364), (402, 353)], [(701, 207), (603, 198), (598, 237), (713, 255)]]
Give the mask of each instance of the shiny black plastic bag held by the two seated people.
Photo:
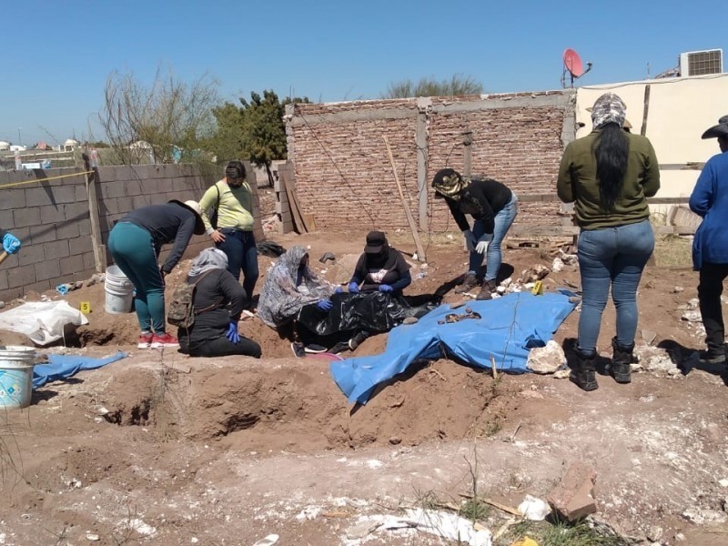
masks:
[(408, 317), (420, 318), (440, 305), (440, 296), (391, 296), (385, 292), (331, 296), (334, 307), (322, 311), (310, 304), (298, 311), (298, 324), (318, 334), (330, 336), (343, 331), (365, 330), (369, 333), (388, 332)]

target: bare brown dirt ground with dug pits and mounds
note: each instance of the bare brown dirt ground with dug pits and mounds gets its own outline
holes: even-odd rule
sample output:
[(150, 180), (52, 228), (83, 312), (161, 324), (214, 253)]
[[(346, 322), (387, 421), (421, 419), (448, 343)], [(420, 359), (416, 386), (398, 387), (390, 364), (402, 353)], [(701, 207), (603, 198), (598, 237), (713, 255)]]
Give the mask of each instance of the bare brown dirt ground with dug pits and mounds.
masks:
[[(311, 263), (346, 282), (364, 235), (269, 238), (310, 246)], [(390, 239), (414, 250), (405, 233)], [(551, 267), (548, 248), (506, 249), (504, 272), (518, 278), (534, 265)], [(319, 263), (327, 251), (338, 265)], [(415, 263), (408, 293), (451, 286), (467, 261), (460, 238), (445, 235), (428, 245), (427, 258), (424, 277)], [(260, 259), (258, 289), (271, 261)], [(188, 268), (186, 261), (173, 271), (168, 291)], [(702, 349), (700, 323), (681, 319), (696, 284), (689, 268), (650, 265), (640, 325), (656, 338), (641, 337), (673, 356)], [(544, 279), (546, 289), (578, 285), (575, 266)], [(89, 324), (66, 338), (68, 347), (42, 352), (102, 357), (122, 349), (128, 357), (37, 389), (27, 410), (2, 412), (0, 544), (252, 545), (272, 533), (280, 545), (449, 544), (376, 522), (426, 500), (460, 503), (473, 476), (479, 495), (507, 506), (526, 494), (545, 499), (578, 460), (597, 472), (595, 521), (625, 540), (728, 544), (720, 370), (652, 369), (630, 385), (601, 376), (600, 388), (586, 393), (566, 379), (494, 379), (440, 359), (353, 408), (326, 360), (293, 358), (288, 340), (258, 318), (241, 331), (261, 344), (263, 359), (189, 359), (136, 349), (135, 316), (106, 314), (103, 284), (65, 298), (74, 307), (91, 303)], [(450, 292), (446, 301), (458, 298)], [(571, 313), (554, 339), (575, 337), (578, 319)], [(599, 342), (605, 355), (613, 335), (610, 304)], [(379, 353), (386, 340), (367, 339), (354, 354)], [(0, 331), (0, 343), (27, 340)], [(508, 518), (493, 508), (482, 523), (496, 532)], [(505, 533), (494, 543), (516, 538)]]

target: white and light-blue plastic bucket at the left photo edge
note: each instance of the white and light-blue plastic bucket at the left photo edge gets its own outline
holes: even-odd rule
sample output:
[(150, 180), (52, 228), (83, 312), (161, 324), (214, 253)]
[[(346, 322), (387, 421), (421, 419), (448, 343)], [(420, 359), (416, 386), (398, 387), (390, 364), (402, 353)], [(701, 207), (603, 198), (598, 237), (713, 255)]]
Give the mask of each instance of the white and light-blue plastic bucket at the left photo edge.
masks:
[(35, 349), (0, 345), (0, 408), (27, 408), (33, 395)]

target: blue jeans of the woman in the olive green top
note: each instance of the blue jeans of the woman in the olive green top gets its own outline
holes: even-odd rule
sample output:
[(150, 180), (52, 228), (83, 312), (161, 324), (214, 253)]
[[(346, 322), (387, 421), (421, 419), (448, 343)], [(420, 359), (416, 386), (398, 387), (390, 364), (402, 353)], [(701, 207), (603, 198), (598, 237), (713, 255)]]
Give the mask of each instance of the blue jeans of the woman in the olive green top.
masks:
[(637, 286), (654, 250), (650, 220), (582, 230), (578, 246), (583, 291), (579, 349), (589, 355), (596, 349), (610, 285), (617, 310), (617, 343), (630, 347), (637, 331)]

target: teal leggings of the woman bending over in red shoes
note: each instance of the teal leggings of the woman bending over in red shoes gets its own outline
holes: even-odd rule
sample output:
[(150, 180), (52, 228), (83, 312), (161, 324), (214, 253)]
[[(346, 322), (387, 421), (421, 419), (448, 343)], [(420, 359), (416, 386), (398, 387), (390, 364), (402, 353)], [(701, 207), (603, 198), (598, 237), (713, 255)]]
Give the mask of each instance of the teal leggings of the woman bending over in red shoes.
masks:
[(116, 265), (136, 288), (134, 307), (142, 331), (165, 333), (165, 281), (157, 265), (152, 236), (144, 227), (119, 222), (108, 236)]

